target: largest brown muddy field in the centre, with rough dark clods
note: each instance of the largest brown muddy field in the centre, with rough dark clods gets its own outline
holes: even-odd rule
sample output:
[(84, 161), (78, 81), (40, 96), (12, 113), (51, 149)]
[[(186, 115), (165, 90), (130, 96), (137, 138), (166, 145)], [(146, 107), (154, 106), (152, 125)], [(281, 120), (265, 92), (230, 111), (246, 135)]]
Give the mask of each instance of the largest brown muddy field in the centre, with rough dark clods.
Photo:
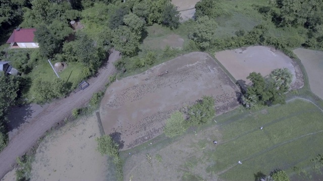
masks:
[(239, 92), (208, 54), (192, 52), (114, 82), (102, 99), (100, 117), (105, 134), (118, 135), (125, 150), (163, 133), (172, 112), (202, 96), (214, 97), (219, 115), (239, 105)]

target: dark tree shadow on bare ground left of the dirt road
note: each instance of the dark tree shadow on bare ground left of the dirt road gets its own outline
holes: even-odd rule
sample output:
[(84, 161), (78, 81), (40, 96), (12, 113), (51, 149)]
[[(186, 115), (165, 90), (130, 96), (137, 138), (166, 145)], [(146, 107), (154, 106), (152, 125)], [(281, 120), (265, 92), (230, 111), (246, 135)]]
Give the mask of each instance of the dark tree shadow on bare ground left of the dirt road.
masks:
[(8, 120), (5, 121), (8, 132), (17, 129), (22, 124), (26, 123), (27, 120), (31, 118), (32, 113), (35, 112), (30, 104), (15, 106), (11, 109), (12, 111), (8, 114)]

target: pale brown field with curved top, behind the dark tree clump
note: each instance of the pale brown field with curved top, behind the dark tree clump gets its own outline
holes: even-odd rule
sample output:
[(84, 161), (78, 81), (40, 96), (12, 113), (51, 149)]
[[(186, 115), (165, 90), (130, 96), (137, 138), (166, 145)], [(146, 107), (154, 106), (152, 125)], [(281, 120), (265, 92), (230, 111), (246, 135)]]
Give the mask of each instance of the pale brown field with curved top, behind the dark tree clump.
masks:
[(251, 72), (266, 76), (276, 68), (288, 68), (293, 74), (291, 89), (303, 87), (304, 80), (299, 65), (283, 52), (265, 46), (251, 46), (216, 52), (215, 57), (245, 88), (251, 83), (246, 77)]

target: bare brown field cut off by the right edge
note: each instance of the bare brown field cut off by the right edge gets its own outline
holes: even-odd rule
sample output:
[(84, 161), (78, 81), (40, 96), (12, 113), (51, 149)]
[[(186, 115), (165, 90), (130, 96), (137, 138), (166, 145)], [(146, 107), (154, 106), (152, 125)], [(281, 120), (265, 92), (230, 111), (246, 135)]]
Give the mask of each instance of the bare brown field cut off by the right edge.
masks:
[(323, 100), (323, 52), (297, 48), (294, 53), (305, 67), (311, 91)]

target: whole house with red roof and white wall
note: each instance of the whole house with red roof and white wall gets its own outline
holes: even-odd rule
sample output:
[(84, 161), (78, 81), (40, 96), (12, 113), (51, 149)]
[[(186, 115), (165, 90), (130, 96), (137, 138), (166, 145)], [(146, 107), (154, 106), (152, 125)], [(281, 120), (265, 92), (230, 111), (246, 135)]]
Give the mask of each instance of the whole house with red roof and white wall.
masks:
[(38, 43), (34, 42), (34, 28), (17, 28), (11, 34), (7, 43), (11, 48), (39, 48)]

